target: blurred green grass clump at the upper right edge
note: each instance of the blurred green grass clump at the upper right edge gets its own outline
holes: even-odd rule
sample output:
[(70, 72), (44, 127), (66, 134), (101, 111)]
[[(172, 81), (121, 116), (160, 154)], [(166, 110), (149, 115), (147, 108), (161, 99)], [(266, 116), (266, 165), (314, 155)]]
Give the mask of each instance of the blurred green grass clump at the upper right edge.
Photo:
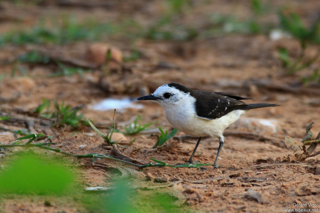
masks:
[[(312, 57), (306, 58), (305, 52), (310, 43), (320, 42), (320, 18), (314, 21), (310, 27), (303, 24), (303, 21), (296, 13), (285, 15), (283, 11), (279, 12), (280, 26), (283, 30), (289, 32), (294, 38), (299, 40), (301, 52), (297, 58), (291, 59), (286, 48), (278, 49), (278, 58), (282, 62), (282, 66), (287, 74), (293, 74), (305, 68), (309, 68), (320, 56), (320, 51)], [(310, 78), (305, 81), (316, 80), (318, 78), (318, 69), (313, 70)]]

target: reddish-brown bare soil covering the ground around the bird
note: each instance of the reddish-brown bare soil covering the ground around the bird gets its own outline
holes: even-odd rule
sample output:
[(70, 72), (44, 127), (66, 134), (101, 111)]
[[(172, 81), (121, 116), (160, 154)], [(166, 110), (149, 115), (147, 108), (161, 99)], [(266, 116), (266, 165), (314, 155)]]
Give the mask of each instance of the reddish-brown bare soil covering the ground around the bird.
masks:
[[(6, 14), (9, 18), (22, 19), (19, 24), (26, 29), (44, 17), (48, 10), (58, 15), (72, 13), (79, 20), (92, 17), (92, 14), (99, 20), (132, 17), (142, 23), (146, 22), (146, 25), (148, 19), (156, 19), (161, 15), (161, 7), (158, 5), (160, 3), (156, 1), (110, 1), (110, 7), (91, 9), (43, 2), (46, 4), (27, 5), (23, 9), (4, 1), (0, 4), (0, 9), (15, 12), (17, 15)], [(275, 5), (286, 3), (270, 1), (269, 4), (271, 2)], [(289, 6), (305, 15), (319, 10), (320, 2), (292, 1)], [(247, 1), (215, 1), (204, 6), (197, 5), (193, 13), (185, 15), (181, 20), (201, 22), (201, 19), (194, 20), (192, 17), (204, 14), (205, 11), (234, 13), (239, 17), (247, 17), (250, 4)], [(275, 17), (276, 15), (271, 15), (269, 19), (274, 20)], [(16, 27), (15, 19), (9, 18), (0, 18), (0, 32), (8, 32), (12, 27)], [(308, 21), (308, 17), (306, 20)], [(110, 38), (104, 42), (120, 48), (124, 55), (130, 50), (127, 48), (128, 41)], [(90, 42), (75, 42), (66, 45), (42, 45), (41, 48), (62, 56), (84, 60), (89, 45)], [(293, 203), (312, 202), (320, 205), (320, 176), (316, 173), (316, 169), (320, 167), (319, 156), (304, 161), (288, 162), (287, 156), (293, 155), (293, 151), (284, 144), (287, 135), (301, 141), (306, 135), (306, 126), (311, 122), (315, 123), (312, 129), (315, 134), (320, 130), (320, 88), (312, 85), (301, 86), (300, 77), (308, 75), (311, 72), (308, 69), (293, 76), (284, 74), (280, 62), (276, 59), (276, 49), (281, 46), (299, 51), (296, 40), (286, 38), (272, 41), (268, 35), (228, 34), (179, 42), (140, 39), (136, 48), (142, 53), (142, 57), (124, 62), (121, 66), (125, 69), (117, 69), (102, 78), (101, 69), (85, 72), (83, 76), (49, 78), (47, 76), (57, 69), (55, 65), (24, 65), (27, 69), (26, 76), (11, 78), (7, 75), (0, 82), (1, 97), (4, 99), (1, 113), (11, 116), (10, 119), (1, 121), (0, 126), (12, 130), (29, 128), (32, 133), (52, 135), (52, 142), (56, 143), (52, 145), (53, 148), (73, 154), (112, 155), (112, 147), (106, 146), (90, 127), (82, 126), (70, 130), (68, 126), (44, 126), (43, 118), (30, 112), (42, 103), (42, 98), (57, 100), (59, 103), (64, 101), (71, 106), (84, 104), (80, 112), (94, 124), (106, 127), (112, 123), (113, 110), (92, 110), (94, 103), (107, 97), (137, 98), (170, 82), (177, 82), (193, 89), (224, 91), (254, 98), (246, 101), (247, 103), (281, 103), (281, 107), (250, 110), (238, 123), (226, 130), (225, 144), (219, 159), (219, 163), (223, 165), (220, 169), (214, 169), (212, 166), (206, 166), (205, 170), (149, 167), (141, 171), (111, 160), (100, 159), (97, 162), (119, 168), (123, 174), (130, 173), (134, 181), (139, 182), (141, 186), (167, 184), (164, 187), (167, 192), (172, 195), (180, 193), (178, 198), (181, 208), (194, 212), (284, 212), (284, 208), (292, 208)], [(3, 61), (14, 58), (28, 49), (39, 47), (8, 44), (0, 51), (0, 59)], [(313, 45), (308, 51), (312, 54), (318, 48), (319, 46)], [(12, 66), (2, 64), (0, 73), (10, 73)], [(288, 87), (290, 89), (286, 89)], [(19, 98), (15, 98), (17, 93), (20, 94)], [(8, 101), (11, 97), (13, 100)], [(140, 123), (157, 122), (154, 126), (171, 128), (160, 106), (145, 102), (142, 104), (143, 109), (116, 112), (115, 121), (120, 130), (123, 129), (123, 124), (132, 121), (137, 114), (142, 117)], [(256, 121), (246, 125), (246, 118), (274, 120), (276, 131), (268, 126), (261, 126)], [(108, 131), (106, 128), (99, 129), (103, 133)], [(15, 139), (13, 133), (4, 132), (6, 133), (1, 135), (0, 142), (12, 143)], [(248, 134), (241, 133), (252, 133), (256, 136), (249, 137)], [(156, 138), (151, 136), (151, 133), (139, 133), (126, 138), (128, 141), (136, 138), (136, 141), (132, 145), (120, 147), (119, 150), (143, 164), (149, 163), (149, 158), (167, 164), (186, 162), (197, 141), (197, 138), (188, 137), (179, 131), (168, 143), (180, 140), (181, 142), (172, 147), (152, 148)], [(218, 145), (217, 140), (204, 138), (197, 149), (194, 161), (213, 163)], [(316, 148), (315, 152), (319, 150)], [(74, 159), (73, 163), (84, 165), (92, 163), (92, 160)], [(82, 166), (80, 170), (82, 181), (88, 187), (109, 186), (114, 178), (112, 172), (98, 167)], [(88, 212), (74, 200), (55, 198), (51, 201), (51, 206), (45, 206), (44, 200), (45, 198), (21, 198), (17, 195), (3, 199), (1, 210)]]

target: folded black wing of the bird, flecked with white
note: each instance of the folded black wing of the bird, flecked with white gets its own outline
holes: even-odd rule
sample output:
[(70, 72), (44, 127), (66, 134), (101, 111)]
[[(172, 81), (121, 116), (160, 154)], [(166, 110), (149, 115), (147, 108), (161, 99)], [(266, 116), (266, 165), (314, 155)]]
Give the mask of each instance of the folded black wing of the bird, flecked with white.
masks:
[(218, 95), (213, 92), (193, 90), (196, 98), (196, 114), (204, 119), (216, 119), (228, 114), (233, 110), (240, 109), (245, 104), (235, 98)]

